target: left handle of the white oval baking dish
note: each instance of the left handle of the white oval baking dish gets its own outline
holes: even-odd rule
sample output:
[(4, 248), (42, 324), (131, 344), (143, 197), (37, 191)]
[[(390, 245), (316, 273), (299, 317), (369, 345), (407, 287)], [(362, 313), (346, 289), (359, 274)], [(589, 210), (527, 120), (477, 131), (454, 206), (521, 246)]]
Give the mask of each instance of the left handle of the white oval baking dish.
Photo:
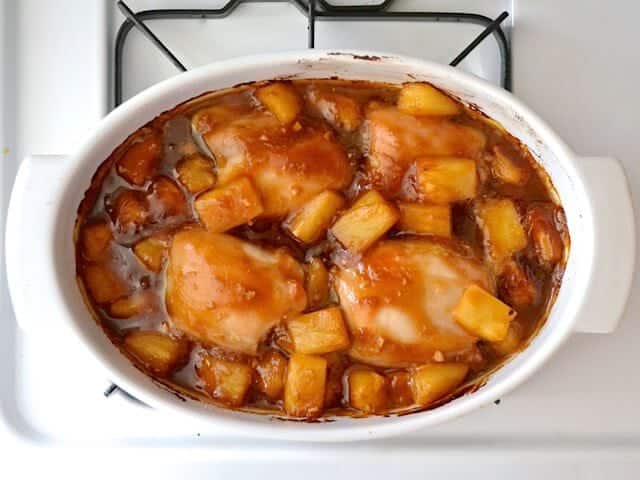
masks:
[[(9, 200), (5, 230), (7, 281), (18, 325), (25, 331), (48, 329), (55, 316), (47, 307), (52, 285), (58, 281), (54, 268), (43, 268), (54, 259), (55, 199), (63, 187), (68, 157), (26, 157), (16, 175)], [(69, 212), (73, 215), (73, 212)], [(34, 221), (33, 219), (37, 219)], [(36, 321), (47, 316), (44, 322)]]

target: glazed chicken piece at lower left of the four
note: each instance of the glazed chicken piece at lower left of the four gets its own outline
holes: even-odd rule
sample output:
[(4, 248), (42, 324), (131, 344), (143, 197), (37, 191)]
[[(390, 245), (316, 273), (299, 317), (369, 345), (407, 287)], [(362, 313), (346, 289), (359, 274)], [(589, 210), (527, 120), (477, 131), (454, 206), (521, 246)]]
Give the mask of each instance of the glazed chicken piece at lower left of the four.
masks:
[(201, 229), (173, 239), (166, 301), (174, 327), (251, 355), (271, 328), (307, 304), (302, 268), (283, 249)]

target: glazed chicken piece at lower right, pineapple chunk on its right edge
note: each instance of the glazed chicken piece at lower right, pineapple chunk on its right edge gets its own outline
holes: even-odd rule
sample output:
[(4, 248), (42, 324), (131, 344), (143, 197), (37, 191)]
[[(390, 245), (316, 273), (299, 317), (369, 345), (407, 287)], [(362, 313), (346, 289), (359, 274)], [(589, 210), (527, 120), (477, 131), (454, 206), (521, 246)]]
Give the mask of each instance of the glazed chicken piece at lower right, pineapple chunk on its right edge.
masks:
[(350, 355), (403, 367), (473, 347), (477, 338), (451, 315), (464, 289), (493, 291), (478, 261), (429, 240), (386, 240), (354, 267), (336, 272), (335, 288), (352, 335)]

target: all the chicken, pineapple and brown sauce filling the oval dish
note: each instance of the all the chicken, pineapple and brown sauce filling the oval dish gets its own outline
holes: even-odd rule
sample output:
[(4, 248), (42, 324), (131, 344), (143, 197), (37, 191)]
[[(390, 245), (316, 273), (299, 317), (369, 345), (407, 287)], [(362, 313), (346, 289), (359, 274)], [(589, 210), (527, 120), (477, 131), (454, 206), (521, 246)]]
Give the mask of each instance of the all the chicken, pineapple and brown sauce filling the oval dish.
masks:
[(544, 323), (569, 247), (528, 150), (426, 83), (204, 94), (134, 132), (78, 209), (80, 288), (139, 369), (291, 418), (462, 394)]

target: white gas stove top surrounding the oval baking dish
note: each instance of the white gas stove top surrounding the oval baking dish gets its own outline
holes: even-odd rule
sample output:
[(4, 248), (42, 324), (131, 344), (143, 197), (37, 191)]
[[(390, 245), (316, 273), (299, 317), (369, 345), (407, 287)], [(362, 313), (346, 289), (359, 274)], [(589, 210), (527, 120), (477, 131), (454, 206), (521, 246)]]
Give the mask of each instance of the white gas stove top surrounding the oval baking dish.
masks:
[[(15, 170), (25, 154), (72, 151), (82, 135), (117, 103), (112, 67), (117, 57), (112, 47), (124, 17), (112, 2), (67, 3), (61, 7), (60, 3), (54, 6), (25, 0), (13, 7), (0, 6), (0, 17), (4, 13), (5, 19), (15, 20), (0, 27), (5, 40), (0, 50), (3, 65), (14, 65), (0, 78), (0, 138), (2, 146), (9, 149), (3, 154), (0, 170), (0, 218), (6, 211)], [(190, 8), (215, 9), (227, 2), (186, 3)], [(320, 2), (316, 3), (322, 11)], [(577, 0), (562, 5), (551, 0), (393, 3), (389, 11), (474, 13), (489, 21), (506, 10), (510, 16), (502, 28), (513, 53), (514, 93), (546, 118), (578, 153), (618, 155), (625, 163), (632, 190), (638, 192), (640, 167), (635, 159), (640, 148), (632, 140), (631, 125), (637, 125), (640, 107), (635, 88), (640, 60), (633, 49), (624, 47), (632, 44), (635, 25), (631, 21), (591, 10)], [(185, 6), (185, 2), (171, 0), (129, 0), (128, 4), (136, 12)], [(176, 59), (191, 69), (243, 54), (305, 48), (308, 18), (299, 7), (295, 1), (243, 3), (225, 18), (143, 21)], [(582, 13), (579, 19), (574, 15), (578, 9)], [(640, 13), (640, 6), (629, 9)], [(486, 22), (454, 21), (457, 18), (442, 15), (439, 21), (435, 18), (384, 22), (317, 19), (315, 46), (390, 51), (449, 63), (486, 27)], [(605, 20), (611, 21), (606, 23), (610, 30), (594, 31)], [(12, 38), (17, 41), (6, 41)], [(499, 39), (490, 35), (459, 68), (504, 85), (501, 48)], [(122, 100), (179, 73), (136, 28), (122, 41), (119, 53)], [(626, 74), (615, 76), (620, 65), (625, 65)], [(9, 94), (11, 91), (17, 94)], [(640, 211), (637, 201), (636, 209)], [(636, 276), (635, 287), (638, 281)], [(254, 473), (273, 463), (278, 465), (278, 474), (289, 472), (292, 476), (299, 475), (305, 462), (318, 468), (305, 468), (305, 476), (320, 477), (326, 475), (320, 473), (326, 459), (338, 455), (345, 473), (356, 475), (366, 464), (370, 470), (361, 473), (376, 478), (392, 472), (425, 474), (431, 470), (451, 472), (448, 478), (470, 471), (482, 476), (479, 465), (494, 468), (487, 478), (514, 471), (519, 472), (519, 478), (529, 474), (539, 478), (545, 472), (575, 472), (571, 462), (578, 459), (583, 466), (599, 461), (596, 465), (610, 473), (628, 473), (625, 465), (635, 471), (640, 467), (637, 297), (632, 297), (618, 331), (574, 335), (547, 367), (498, 405), (428, 431), (336, 448), (265, 444), (233, 432), (186, 424), (121, 392), (106, 398), (103, 392), (109, 380), (80, 346), (69, 344), (59, 319), (47, 318), (43, 312), (35, 324), (46, 322), (46, 329), (23, 331), (16, 326), (4, 278), (2, 282), (0, 417), (8, 428), (0, 427), (0, 445), (20, 444), (25, 449), (55, 446), (64, 452), (79, 446), (118, 452), (130, 447), (127, 455), (135, 451), (142, 458), (146, 451), (149, 459), (154, 456), (148, 449), (163, 448), (170, 455), (154, 460), (159, 478), (171, 472), (160, 467), (169, 460), (185, 462), (185, 468), (193, 472), (200, 471), (196, 465), (204, 468), (207, 462), (222, 462), (216, 464), (220, 474), (238, 471), (234, 466), (239, 468), (243, 462)], [(460, 455), (465, 456), (464, 465), (457, 462)], [(541, 458), (548, 462), (541, 463)], [(515, 469), (517, 461), (529, 465), (524, 475)]]

